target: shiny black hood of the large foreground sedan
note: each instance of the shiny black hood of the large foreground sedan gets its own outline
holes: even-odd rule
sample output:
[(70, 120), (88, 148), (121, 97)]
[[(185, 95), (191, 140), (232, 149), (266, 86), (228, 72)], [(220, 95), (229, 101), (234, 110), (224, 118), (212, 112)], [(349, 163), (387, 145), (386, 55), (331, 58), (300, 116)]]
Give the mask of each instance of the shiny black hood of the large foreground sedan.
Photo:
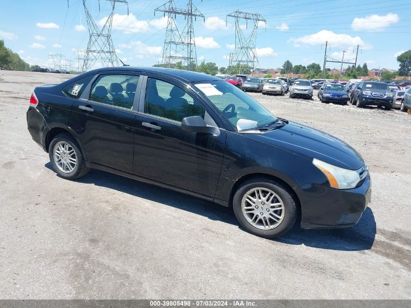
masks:
[(291, 121), (281, 128), (249, 136), (345, 169), (357, 170), (364, 164), (361, 155), (342, 140)]

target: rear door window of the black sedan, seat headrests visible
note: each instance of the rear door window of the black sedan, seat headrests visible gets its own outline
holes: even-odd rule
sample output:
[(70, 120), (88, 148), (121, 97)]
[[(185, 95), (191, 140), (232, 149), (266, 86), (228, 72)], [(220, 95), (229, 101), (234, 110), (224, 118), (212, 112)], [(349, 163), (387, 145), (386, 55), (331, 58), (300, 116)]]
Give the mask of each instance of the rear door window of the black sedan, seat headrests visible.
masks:
[(105, 74), (97, 77), (89, 99), (94, 102), (132, 109), (139, 76)]

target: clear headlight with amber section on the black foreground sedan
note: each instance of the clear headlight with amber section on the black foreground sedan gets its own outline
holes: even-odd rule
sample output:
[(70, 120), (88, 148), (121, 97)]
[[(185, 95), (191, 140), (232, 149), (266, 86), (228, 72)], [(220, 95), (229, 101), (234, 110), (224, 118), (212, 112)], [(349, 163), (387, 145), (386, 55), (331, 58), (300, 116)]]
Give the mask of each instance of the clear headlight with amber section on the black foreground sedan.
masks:
[(354, 188), (361, 180), (356, 170), (340, 168), (315, 158), (313, 164), (326, 176), (331, 187), (337, 189)]

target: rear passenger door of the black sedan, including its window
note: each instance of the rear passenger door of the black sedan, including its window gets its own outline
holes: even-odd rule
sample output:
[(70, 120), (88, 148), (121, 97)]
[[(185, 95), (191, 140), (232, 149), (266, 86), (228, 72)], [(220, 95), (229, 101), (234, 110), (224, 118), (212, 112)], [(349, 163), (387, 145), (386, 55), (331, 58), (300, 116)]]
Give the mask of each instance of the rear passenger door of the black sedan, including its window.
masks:
[(69, 120), (90, 163), (133, 172), (135, 95), (140, 77), (133, 72), (96, 75), (75, 100)]

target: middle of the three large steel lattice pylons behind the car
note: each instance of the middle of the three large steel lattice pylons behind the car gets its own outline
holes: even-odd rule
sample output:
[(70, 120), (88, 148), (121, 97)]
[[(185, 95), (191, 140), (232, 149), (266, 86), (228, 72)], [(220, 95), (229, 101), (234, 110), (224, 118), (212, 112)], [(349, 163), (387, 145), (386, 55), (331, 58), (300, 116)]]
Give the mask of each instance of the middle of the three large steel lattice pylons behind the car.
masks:
[[(164, 48), (161, 65), (170, 67), (170, 65), (181, 62), (182, 68), (188, 71), (197, 69), (196, 42), (194, 41), (194, 20), (204, 15), (200, 13), (192, 0), (188, 0), (187, 8), (181, 9), (175, 6), (174, 0), (169, 0), (154, 10), (163, 12), (164, 17), (167, 14), (168, 22), (164, 38)], [(183, 15), (187, 22), (182, 32), (179, 32), (175, 18), (177, 15)]]

